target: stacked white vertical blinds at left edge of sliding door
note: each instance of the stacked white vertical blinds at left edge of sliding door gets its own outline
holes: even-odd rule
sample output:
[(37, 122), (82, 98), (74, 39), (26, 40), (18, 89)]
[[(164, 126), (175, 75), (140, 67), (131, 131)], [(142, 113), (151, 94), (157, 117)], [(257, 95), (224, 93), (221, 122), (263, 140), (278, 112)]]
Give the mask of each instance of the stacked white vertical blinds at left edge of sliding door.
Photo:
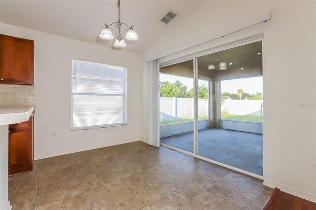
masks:
[(147, 142), (159, 147), (159, 60), (147, 63), (148, 131)]

